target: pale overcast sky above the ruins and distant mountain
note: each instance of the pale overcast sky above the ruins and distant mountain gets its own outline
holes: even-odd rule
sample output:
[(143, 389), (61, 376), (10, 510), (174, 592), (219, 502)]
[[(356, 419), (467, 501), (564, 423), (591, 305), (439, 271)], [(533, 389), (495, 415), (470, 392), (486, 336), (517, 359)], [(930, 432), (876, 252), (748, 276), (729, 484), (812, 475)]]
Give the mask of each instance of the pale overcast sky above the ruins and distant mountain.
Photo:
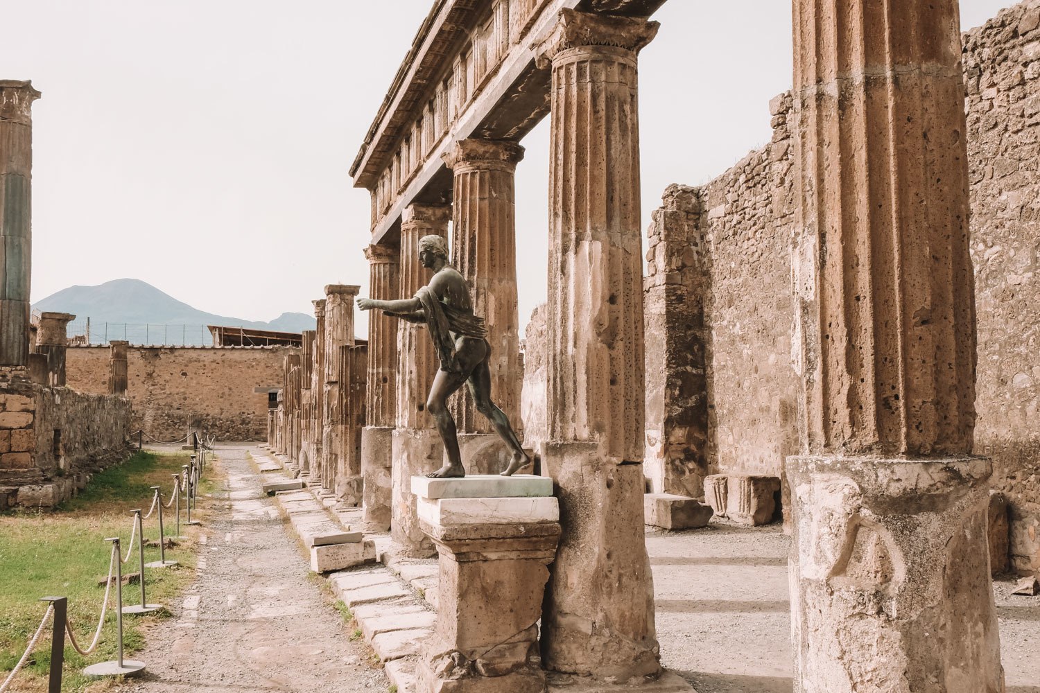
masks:
[[(961, 0), (977, 26), (1009, 0)], [(0, 79), (31, 79), (32, 298), (144, 279), (203, 311), (367, 291), (350, 162), (432, 0), (0, 0)], [(643, 51), (644, 229), (670, 183), (770, 138), (786, 0), (671, 0)], [(548, 119), (517, 172), (520, 320), (545, 300)], [(80, 316), (86, 317), (86, 316)], [(358, 334), (365, 334), (364, 320)]]

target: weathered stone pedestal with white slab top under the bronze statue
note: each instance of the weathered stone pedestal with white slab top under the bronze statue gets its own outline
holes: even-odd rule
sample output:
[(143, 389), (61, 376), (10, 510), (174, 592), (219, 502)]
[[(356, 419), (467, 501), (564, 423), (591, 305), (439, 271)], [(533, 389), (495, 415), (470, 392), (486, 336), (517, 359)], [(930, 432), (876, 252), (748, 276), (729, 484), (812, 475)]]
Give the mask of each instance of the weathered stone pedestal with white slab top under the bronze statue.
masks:
[[(473, 498), (482, 485), (499, 496)], [(530, 494), (551, 492), (551, 481), (419, 477), (412, 490), (440, 557), (437, 622), (417, 693), (543, 693), (538, 621), (560, 524), (556, 500)]]

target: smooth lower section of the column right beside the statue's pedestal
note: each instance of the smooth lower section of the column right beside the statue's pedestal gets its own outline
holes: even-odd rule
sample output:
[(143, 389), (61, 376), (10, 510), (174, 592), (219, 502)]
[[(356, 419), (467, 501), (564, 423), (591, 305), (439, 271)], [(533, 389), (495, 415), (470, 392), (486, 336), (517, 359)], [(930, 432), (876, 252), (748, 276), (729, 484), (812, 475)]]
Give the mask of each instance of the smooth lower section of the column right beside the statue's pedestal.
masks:
[(554, 671), (628, 681), (661, 671), (643, 525), (643, 464), (595, 444), (546, 443), (564, 527), (546, 590), (542, 658)]

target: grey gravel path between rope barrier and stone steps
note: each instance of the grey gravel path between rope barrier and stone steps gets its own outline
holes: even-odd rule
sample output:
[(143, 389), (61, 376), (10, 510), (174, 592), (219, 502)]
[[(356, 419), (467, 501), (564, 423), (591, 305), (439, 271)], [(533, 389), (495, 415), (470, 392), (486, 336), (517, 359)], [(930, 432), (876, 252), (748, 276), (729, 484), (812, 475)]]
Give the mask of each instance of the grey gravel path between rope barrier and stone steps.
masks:
[(228, 500), (207, 519), (199, 576), (175, 616), (134, 659), (145, 677), (126, 691), (386, 691), (370, 650), (352, 642), (332, 597), (278, 513), (261, 498), (245, 447), (217, 450)]

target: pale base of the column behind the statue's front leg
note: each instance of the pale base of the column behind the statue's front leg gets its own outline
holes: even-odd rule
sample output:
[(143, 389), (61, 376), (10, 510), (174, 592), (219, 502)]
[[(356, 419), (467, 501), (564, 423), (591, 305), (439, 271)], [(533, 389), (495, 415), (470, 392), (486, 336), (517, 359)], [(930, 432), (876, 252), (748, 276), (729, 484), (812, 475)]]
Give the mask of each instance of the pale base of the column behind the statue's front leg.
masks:
[(408, 558), (432, 558), (434, 542), (419, 527), (412, 494), (412, 477), (434, 472), (443, 464), (444, 444), (433, 429), (397, 428), (393, 431), (392, 551)]

